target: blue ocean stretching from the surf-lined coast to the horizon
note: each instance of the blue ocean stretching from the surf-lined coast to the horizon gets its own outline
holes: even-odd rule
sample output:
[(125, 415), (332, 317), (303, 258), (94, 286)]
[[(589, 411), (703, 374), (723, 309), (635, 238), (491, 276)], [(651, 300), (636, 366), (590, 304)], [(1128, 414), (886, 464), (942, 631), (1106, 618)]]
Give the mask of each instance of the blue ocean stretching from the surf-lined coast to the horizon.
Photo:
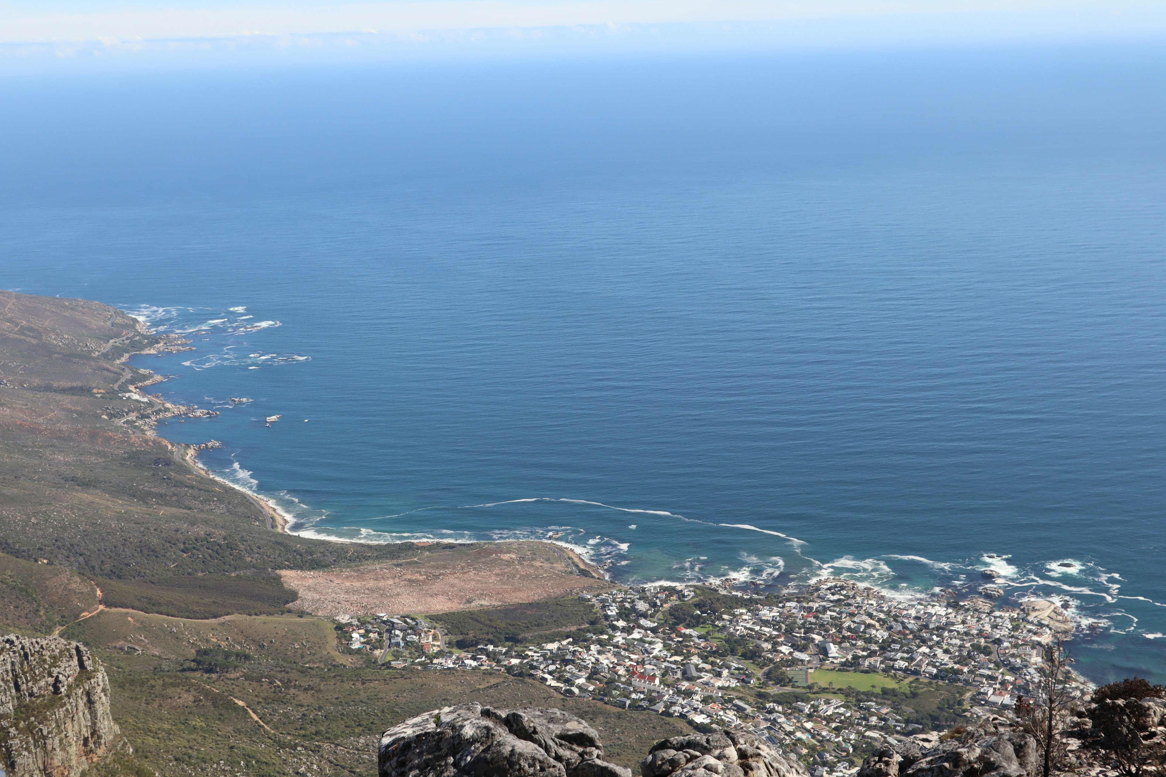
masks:
[[(296, 531), (1052, 596), (1166, 681), (1166, 54), (0, 80), (2, 285), (118, 305)], [(231, 397), (245, 400), (232, 402)], [(267, 423), (269, 416), (279, 416)], [(1091, 624), (1091, 626), (1090, 626)]]

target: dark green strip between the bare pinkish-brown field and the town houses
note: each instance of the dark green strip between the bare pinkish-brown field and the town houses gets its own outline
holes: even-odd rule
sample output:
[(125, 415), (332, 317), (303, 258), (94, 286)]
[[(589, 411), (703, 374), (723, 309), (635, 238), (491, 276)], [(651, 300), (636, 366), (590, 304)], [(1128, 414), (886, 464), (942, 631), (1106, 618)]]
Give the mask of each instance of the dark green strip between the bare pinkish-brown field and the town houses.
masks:
[(444, 613), (431, 620), (440, 623), (454, 644), (463, 650), (479, 644), (553, 642), (575, 631), (595, 631), (603, 624), (595, 605), (576, 596)]

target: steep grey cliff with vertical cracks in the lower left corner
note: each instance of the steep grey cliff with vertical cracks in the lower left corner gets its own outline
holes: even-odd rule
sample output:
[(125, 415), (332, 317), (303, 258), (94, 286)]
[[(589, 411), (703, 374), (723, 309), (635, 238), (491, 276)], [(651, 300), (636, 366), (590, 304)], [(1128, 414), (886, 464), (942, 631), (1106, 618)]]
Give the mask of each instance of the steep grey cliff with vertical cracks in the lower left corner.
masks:
[(0, 637), (0, 758), (9, 777), (71, 777), (117, 744), (105, 670), (77, 642)]

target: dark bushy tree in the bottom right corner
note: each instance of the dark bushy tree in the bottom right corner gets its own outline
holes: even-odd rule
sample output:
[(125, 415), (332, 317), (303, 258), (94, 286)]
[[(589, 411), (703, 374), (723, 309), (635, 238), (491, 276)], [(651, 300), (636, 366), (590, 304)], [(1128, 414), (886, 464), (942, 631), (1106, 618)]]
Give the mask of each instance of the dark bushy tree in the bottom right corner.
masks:
[[(1102, 747), (1124, 777), (1160, 772), (1166, 767), (1166, 735), (1157, 730), (1166, 687), (1133, 677), (1094, 692), (1090, 718), (1104, 737)], [(1156, 709), (1158, 707), (1158, 709)]]

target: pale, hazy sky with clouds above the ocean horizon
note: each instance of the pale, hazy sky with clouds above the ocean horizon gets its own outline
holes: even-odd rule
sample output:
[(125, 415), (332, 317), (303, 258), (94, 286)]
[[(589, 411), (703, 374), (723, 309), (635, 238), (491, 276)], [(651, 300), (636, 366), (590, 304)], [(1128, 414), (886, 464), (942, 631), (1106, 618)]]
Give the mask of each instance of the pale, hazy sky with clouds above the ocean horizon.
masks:
[(1166, 0), (0, 0), (0, 69), (1166, 38)]

